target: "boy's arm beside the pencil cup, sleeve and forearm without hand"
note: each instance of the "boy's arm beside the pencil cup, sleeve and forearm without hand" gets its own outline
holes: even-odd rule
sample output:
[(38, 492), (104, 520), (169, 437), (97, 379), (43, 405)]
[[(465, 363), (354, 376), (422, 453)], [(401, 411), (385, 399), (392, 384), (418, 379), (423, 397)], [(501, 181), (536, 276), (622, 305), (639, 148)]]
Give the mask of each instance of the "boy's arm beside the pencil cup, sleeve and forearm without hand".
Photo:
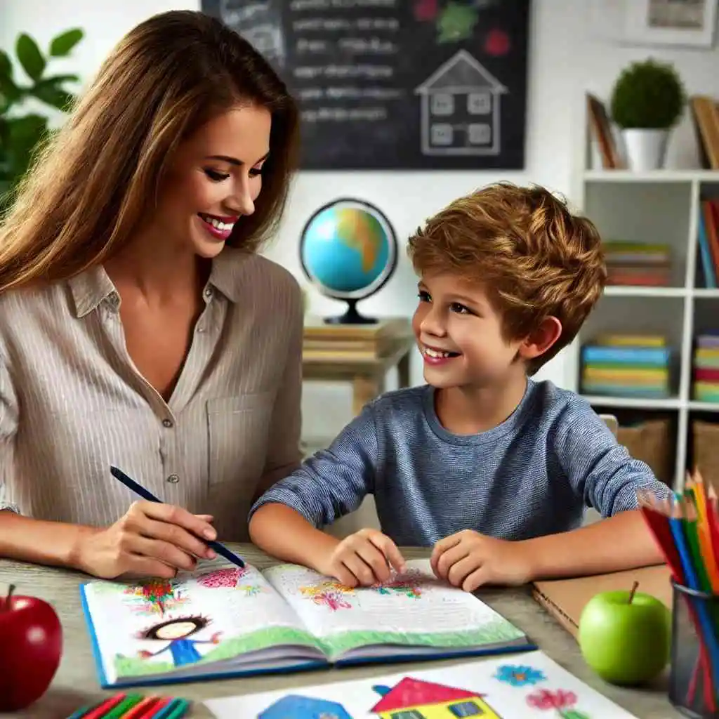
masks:
[(567, 411), (552, 435), (564, 476), (602, 519), (574, 531), (527, 541), (536, 577), (602, 574), (657, 564), (661, 551), (638, 509), (637, 490), (659, 498), (672, 491), (633, 459), (587, 406)]

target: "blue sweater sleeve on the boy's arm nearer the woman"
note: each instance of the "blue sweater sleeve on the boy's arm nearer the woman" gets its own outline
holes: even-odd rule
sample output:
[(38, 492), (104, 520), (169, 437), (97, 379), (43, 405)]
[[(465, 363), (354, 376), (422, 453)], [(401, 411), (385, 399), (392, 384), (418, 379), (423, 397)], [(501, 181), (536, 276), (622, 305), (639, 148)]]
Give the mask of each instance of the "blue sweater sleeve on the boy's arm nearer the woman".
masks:
[(328, 526), (356, 510), (375, 486), (378, 464), (377, 430), (372, 404), (365, 406), (328, 449), (306, 459), (301, 467), (270, 487), (249, 510), (280, 503), (293, 508), (313, 526)]

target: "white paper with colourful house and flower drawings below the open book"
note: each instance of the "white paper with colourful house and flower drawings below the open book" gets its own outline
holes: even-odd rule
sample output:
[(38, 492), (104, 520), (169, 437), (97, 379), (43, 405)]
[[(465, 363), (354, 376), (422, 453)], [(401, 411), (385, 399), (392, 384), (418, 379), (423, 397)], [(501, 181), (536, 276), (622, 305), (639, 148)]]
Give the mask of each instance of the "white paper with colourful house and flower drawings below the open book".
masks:
[(217, 719), (636, 719), (541, 651), (205, 704)]

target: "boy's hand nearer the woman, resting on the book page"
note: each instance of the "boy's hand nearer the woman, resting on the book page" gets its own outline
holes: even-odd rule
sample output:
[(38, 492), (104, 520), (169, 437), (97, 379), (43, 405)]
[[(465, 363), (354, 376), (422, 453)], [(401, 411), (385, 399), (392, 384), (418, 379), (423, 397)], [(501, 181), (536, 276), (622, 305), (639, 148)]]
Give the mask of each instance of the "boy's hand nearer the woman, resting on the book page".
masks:
[(360, 529), (337, 544), (317, 569), (346, 587), (370, 587), (386, 582), (391, 567), (398, 572), (405, 569), (404, 557), (397, 545), (376, 529)]

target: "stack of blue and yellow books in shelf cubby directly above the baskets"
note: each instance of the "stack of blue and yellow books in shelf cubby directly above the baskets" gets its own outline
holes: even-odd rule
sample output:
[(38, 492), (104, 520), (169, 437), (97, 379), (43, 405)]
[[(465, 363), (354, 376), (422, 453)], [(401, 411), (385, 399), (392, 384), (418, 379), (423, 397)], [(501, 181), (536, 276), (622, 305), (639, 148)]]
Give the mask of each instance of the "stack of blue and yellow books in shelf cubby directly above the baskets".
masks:
[(666, 398), (672, 393), (672, 352), (658, 335), (598, 336), (582, 347), (582, 393)]

